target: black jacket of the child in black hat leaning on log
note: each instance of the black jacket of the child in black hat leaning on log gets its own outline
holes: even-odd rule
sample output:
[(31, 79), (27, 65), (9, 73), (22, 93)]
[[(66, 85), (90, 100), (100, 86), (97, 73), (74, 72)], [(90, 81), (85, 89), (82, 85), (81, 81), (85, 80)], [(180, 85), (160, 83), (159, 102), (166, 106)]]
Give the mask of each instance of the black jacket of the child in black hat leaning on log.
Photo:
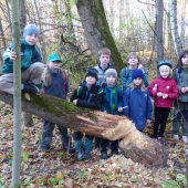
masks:
[(77, 100), (76, 106), (87, 107), (92, 109), (101, 108), (101, 101), (103, 98), (103, 90), (100, 85), (92, 85), (87, 91), (86, 82), (83, 82), (71, 96), (71, 102)]

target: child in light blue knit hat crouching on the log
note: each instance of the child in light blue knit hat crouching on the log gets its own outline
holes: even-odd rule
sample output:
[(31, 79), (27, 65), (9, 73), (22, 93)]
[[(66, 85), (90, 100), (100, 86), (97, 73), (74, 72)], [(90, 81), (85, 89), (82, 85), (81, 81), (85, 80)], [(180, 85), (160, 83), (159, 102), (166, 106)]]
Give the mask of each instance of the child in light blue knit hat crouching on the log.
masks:
[[(42, 56), (35, 46), (39, 40), (39, 29), (34, 24), (28, 24), (21, 39), (21, 90), (40, 95), (40, 88), (43, 88), (41, 75), (44, 70)], [(13, 94), (13, 61), (17, 59), (13, 52), (13, 43), (4, 52), (3, 66), (0, 76), (0, 90)]]

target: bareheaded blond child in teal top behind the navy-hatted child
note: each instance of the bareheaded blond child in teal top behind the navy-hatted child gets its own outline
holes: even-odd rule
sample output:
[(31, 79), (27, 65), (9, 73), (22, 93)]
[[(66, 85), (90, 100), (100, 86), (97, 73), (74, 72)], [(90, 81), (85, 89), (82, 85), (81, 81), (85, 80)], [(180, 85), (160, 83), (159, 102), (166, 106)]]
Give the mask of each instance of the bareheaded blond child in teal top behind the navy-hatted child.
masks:
[(149, 85), (148, 80), (147, 80), (146, 70), (144, 69), (144, 66), (142, 64), (139, 64), (139, 62), (140, 62), (140, 60), (136, 52), (132, 52), (128, 54), (128, 64), (129, 65), (128, 65), (128, 67), (123, 69), (121, 72), (121, 82), (122, 82), (122, 86), (123, 86), (124, 91), (126, 90), (127, 85), (133, 83), (132, 73), (135, 69), (139, 69), (143, 71), (144, 85), (146, 87)]

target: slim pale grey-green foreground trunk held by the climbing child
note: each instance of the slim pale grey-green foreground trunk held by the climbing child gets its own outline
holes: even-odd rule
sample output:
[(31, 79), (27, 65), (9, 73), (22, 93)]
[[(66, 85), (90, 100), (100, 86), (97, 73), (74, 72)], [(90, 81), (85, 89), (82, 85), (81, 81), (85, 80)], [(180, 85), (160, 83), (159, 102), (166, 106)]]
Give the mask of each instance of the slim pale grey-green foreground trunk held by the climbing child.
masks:
[(11, 0), (12, 38), (17, 60), (13, 61), (13, 169), (12, 186), (20, 186), (21, 165), (21, 55), (20, 55), (20, 11), (19, 0)]

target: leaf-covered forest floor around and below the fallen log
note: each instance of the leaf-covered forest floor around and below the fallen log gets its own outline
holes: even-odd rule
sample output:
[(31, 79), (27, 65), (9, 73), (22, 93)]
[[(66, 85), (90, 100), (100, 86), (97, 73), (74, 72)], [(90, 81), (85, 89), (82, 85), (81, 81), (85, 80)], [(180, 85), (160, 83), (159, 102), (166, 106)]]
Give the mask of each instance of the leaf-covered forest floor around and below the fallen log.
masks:
[[(79, 161), (75, 154), (66, 154), (62, 148), (56, 128), (50, 152), (41, 153), (42, 119), (34, 116), (34, 127), (23, 127), (22, 119), (21, 187), (187, 187), (188, 145), (173, 139), (170, 118), (165, 133), (169, 150), (168, 167), (159, 169), (146, 168), (121, 153), (102, 159), (98, 149), (92, 149), (90, 159)], [(152, 126), (145, 128), (145, 134), (152, 133)], [(13, 114), (12, 107), (6, 105), (0, 109), (0, 188), (11, 187), (12, 149)]]

